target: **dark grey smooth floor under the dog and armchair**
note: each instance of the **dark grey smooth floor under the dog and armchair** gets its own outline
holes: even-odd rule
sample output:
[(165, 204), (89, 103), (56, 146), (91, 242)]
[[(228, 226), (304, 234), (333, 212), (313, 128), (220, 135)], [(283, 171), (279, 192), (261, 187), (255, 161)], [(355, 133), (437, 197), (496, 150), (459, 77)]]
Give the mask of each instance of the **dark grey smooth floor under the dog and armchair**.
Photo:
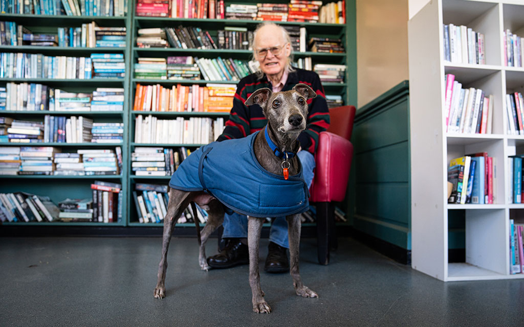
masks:
[(194, 238), (171, 241), (167, 297), (154, 299), (160, 250), (159, 237), (0, 238), (0, 326), (524, 325), (524, 280), (443, 283), (352, 239), (328, 266), (302, 240), (302, 280), (319, 299), (261, 270), (270, 314), (252, 312), (248, 266), (203, 272)]

